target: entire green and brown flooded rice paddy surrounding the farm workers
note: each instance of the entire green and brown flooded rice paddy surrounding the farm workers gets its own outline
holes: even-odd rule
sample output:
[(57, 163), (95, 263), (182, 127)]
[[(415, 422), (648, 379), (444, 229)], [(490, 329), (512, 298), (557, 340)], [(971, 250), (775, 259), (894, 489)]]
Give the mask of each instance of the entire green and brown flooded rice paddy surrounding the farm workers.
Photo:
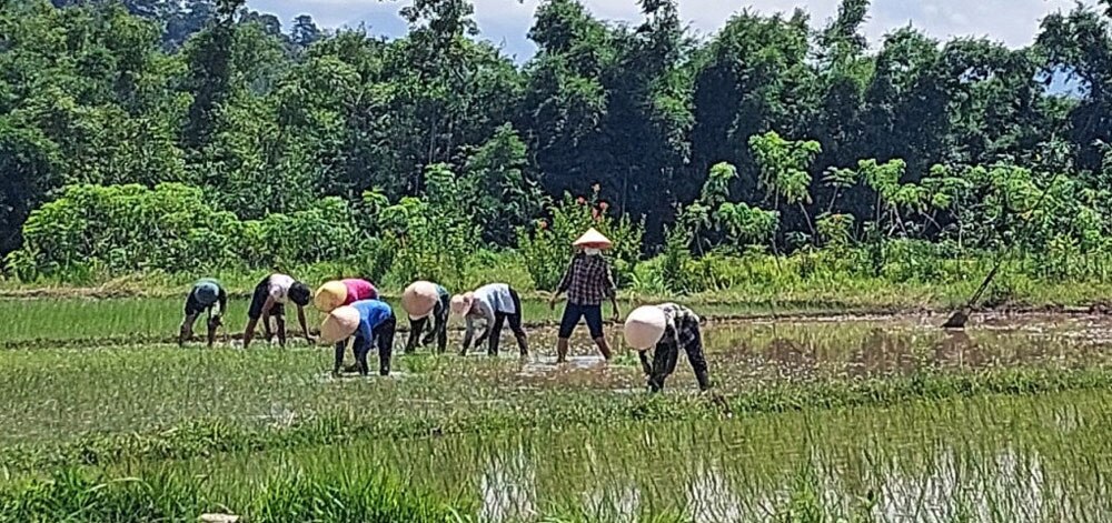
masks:
[(400, 334), (388, 378), (245, 351), (245, 306), (208, 350), (180, 300), (0, 301), (0, 521), (1112, 519), (1108, 316), (707, 306), (714, 391), (682, 356), (649, 395), (614, 326), (615, 361), (580, 329), (556, 365), (540, 302), (527, 360)]

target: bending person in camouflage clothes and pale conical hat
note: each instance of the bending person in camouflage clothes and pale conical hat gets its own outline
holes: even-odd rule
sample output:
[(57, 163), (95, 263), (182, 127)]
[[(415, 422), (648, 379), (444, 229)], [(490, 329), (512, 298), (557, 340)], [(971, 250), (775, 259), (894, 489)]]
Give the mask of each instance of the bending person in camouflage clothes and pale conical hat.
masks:
[[(679, 348), (687, 353), (699, 390), (711, 388), (699, 321), (691, 309), (675, 303), (637, 308), (626, 318), (625, 340), (637, 350), (649, 390), (664, 389), (664, 380), (676, 370)], [(652, 363), (646, 354), (649, 349), (653, 349)]]

